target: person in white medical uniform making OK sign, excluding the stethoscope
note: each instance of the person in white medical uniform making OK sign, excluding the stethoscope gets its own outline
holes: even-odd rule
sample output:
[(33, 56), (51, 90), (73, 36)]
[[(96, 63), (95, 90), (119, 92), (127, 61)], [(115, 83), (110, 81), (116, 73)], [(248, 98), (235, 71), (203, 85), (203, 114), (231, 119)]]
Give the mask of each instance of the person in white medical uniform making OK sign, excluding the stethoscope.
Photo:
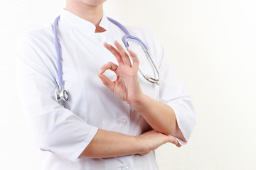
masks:
[(142, 62), (143, 52), (124, 50), (119, 43), (124, 33), (103, 13), (104, 2), (67, 0), (60, 13), (68, 101), (55, 100), (60, 77), (53, 25), (27, 33), (18, 43), (18, 87), (43, 169), (158, 169), (154, 149), (167, 142), (186, 145), (193, 131), (191, 98), (159, 40), (148, 30), (126, 26), (149, 47), (160, 86), (138, 74), (139, 68), (155, 72)]

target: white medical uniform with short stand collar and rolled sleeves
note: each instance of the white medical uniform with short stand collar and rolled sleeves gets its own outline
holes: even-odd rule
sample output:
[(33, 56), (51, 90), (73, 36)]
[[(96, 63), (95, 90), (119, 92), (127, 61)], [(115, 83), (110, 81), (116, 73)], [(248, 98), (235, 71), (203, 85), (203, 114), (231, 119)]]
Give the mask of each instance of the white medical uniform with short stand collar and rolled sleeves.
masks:
[[(53, 25), (30, 31), (18, 43), (18, 86), (28, 122), (43, 154), (43, 169), (158, 169), (154, 151), (143, 157), (78, 158), (98, 128), (133, 136), (151, 129), (139, 113), (117, 98), (97, 77), (103, 64), (117, 63), (103, 42), (113, 45), (114, 40), (118, 40), (122, 43), (124, 35), (105, 15), (100, 26), (106, 31), (95, 33), (92, 23), (65, 9), (61, 12), (58, 38), (64, 86), (70, 97), (63, 103), (64, 106), (55, 101), (58, 68)], [(139, 74), (142, 91), (174, 109), (178, 126), (188, 140), (195, 125), (191, 98), (171, 71), (164, 50), (154, 35), (148, 30), (126, 28), (149, 47), (156, 67), (159, 68), (160, 86), (149, 83)], [(142, 52), (137, 55), (140, 58), (139, 67), (146, 70), (144, 74), (156, 74), (154, 67), (146, 62), (146, 55)], [(114, 80), (113, 72), (105, 74)]]

